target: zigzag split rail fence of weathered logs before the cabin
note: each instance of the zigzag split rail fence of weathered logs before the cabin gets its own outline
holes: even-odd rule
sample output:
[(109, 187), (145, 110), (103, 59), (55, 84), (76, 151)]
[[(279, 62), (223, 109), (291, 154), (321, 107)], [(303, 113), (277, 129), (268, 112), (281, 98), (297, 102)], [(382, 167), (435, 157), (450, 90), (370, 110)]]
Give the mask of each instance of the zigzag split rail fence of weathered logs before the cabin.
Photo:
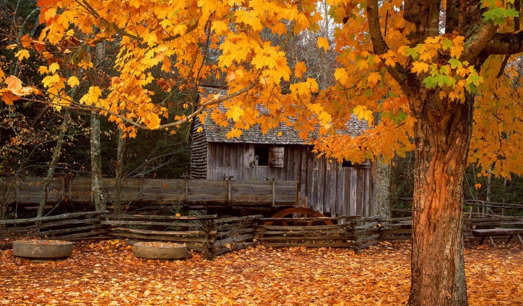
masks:
[[(523, 217), (464, 219), (465, 237), (473, 229), (521, 227)], [(331, 224), (332, 223), (332, 224)], [(207, 258), (257, 243), (287, 246), (339, 247), (357, 253), (380, 240), (411, 239), (410, 218), (359, 216), (263, 218), (261, 215), (209, 216), (112, 215), (72, 213), (51, 217), (0, 220), (0, 249), (19, 238), (55, 240), (129, 239), (184, 243)]]

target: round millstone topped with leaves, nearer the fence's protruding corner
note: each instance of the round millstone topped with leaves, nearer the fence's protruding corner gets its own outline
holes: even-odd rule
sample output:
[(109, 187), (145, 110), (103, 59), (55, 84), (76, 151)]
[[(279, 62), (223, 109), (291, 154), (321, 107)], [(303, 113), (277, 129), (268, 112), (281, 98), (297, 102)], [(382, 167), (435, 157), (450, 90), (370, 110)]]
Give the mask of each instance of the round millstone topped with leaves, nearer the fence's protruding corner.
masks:
[(180, 259), (187, 256), (187, 245), (158, 242), (138, 242), (133, 245), (134, 256), (146, 259)]

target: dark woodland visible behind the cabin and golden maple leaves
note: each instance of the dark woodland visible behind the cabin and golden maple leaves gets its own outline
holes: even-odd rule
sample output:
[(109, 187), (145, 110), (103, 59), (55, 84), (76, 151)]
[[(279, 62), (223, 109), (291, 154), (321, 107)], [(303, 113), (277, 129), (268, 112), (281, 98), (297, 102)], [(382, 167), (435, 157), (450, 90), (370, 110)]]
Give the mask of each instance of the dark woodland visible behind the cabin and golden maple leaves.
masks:
[[(24, 36), (39, 36), (44, 25), (39, 24), (40, 12), (36, 5), (37, 1), (0, 0), (1, 68), (32, 84), (41, 82), (43, 76), (38, 72), (38, 68), (45, 64), (45, 59), (31, 54), (30, 61), (20, 62), (17, 50), (6, 47), (20, 43)], [(326, 88), (334, 82), (333, 70), (338, 55), (332, 48), (323, 50), (317, 44), (317, 37), (329, 36), (328, 21), (325, 21), (319, 32), (301, 33), (290, 42), (272, 35), (275, 42), (295, 57), (295, 63), (307, 63), (308, 70), (304, 74), (315, 78), (321, 88)], [(267, 32), (266, 35), (271, 34)], [(107, 45), (105, 52), (111, 57), (116, 55), (115, 50), (111, 49), (111, 45)], [(217, 60), (217, 57), (209, 56), (211, 60)], [(111, 75), (112, 68), (108, 63), (99, 65), (97, 74), (89, 75), (86, 79), (93, 82)], [(158, 69), (153, 73), (161, 77), (162, 72)], [(89, 82), (83, 82), (76, 90), (76, 96), (82, 96), (88, 85)], [(206, 85), (221, 84), (217, 79), (209, 79)], [(154, 90), (154, 85), (151, 86)], [(153, 102), (160, 103), (166, 97), (165, 94), (161, 94), (163, 91), (157, 92), (160, 95), (154, 96)], [(188, 90), (172, 93), (170, 100), (177, 102), (169, 104), (169, 114), (176, 116), (190, 113), (187, 103), (194, 99), (195, 95), (194, 91)], [(134, 137), (124, 138), (125, 143), (122, 146), (122, 133), (117, 125), (107, 120), (101, 120), (100, 123), (100, 161), (104, 177), (115, 178), (121, 175), (126, 179), (179, 179), (189, 174), (189, 124), (180, 125), (176, 131), (137, 130)], [(31, 101), (15, 105), (8, 105), (3, 101), (0, 108), (0, 175), (18, 179), (46, 176), (50, 167), (54, 167), (54, 176), (91, 176), (90, 131), (89, 112), (74, 109), (71, 112), (58, 112), (47, 105)], [(121, 150), (118, 149), (119, 146), (122, 146)], [(58, 158), (53, 158), (56, 155)], [(410, 208), (410, 202), (402, 199), (411, 198), (414, 190), (413, 153), (407, 152), (405, 157), (395, 156), (390, 166), (391, 206)], [(464, 181), (465, 200), (521, 203), (523, 179), (520, 176), (513, 176), (511, 180), (507, 180), (494, 176), (488, 178), (479, 175), (480, 172), (474, 163), (467, 168)], [(465, 210), (467, 209), (468, 207), (465, 207)], [(15, 212), (10, 213), (14, 216)]]

